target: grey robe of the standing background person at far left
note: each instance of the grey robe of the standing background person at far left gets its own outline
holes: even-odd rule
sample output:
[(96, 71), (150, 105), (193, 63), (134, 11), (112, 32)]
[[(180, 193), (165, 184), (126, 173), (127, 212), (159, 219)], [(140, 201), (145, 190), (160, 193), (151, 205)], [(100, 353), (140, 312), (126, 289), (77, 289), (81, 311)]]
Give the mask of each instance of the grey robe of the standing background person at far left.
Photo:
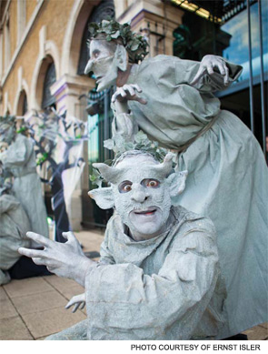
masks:
[(4, 168), (15, 177), (13, 193), (30, 220), (33, 231), (48, 238), (46, 210), (40, 178), (36, 173), (34, 143), (21, 134), (16, 135), (8, 149), (0, 155)]

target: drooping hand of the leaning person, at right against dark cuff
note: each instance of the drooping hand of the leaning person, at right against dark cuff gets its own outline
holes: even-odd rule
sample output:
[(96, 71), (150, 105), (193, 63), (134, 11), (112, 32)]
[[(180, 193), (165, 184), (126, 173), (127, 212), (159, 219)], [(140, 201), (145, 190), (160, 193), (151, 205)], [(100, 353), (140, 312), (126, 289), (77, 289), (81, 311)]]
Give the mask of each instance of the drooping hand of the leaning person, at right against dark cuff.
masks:
[(212, 55), (203, 56), (203, 59), (200, 63), (199, 70), (197, 71), (190, 85), (197, 84), (198, 81), (205, 74), (212, 76), (213, 74), (215, 74), (214, 69), (217, 69), (217, 72), (220, 72), (220, 74), (223, 76), (223, 83), (225, 86), (227, 86), (229, 83), (229, 69), (226, 63), (224, 62), (224, 60), (220, 56), (212, 56)]

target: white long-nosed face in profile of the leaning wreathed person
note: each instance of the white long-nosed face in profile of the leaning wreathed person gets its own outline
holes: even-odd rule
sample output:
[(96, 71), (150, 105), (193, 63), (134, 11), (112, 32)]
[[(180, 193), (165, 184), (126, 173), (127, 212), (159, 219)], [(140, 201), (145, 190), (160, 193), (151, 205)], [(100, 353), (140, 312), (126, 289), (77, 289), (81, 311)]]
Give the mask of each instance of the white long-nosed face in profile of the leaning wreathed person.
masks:
[(92, 40), (90, 42), (90, 60), (85, 68), (85, 73), (94, 72), (97, 91), (109, 88), (116, 84), (117, 61), (114, 56), (116, 44), (107, 43), (105, 40)]

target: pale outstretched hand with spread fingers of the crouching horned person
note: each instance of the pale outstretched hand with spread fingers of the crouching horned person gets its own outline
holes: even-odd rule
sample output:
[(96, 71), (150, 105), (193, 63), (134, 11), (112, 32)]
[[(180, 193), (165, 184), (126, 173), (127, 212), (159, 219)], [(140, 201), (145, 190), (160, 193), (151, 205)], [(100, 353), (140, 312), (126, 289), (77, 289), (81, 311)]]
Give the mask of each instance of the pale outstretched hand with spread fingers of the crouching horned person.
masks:
[(27, 232), (27, 238), (44, 247), (44, 249), (18, 248), (18, 252), (29, 258), (33, 258), (36, 265), (45, 265), (46, 268), (59, 277), (71, 278), (84, 286), (86, 270), (94, 264), (94, 261), (86, 258), (78, 240), (73, 232), (64, 232), (66, 243), (52, 241), (44, 236)]

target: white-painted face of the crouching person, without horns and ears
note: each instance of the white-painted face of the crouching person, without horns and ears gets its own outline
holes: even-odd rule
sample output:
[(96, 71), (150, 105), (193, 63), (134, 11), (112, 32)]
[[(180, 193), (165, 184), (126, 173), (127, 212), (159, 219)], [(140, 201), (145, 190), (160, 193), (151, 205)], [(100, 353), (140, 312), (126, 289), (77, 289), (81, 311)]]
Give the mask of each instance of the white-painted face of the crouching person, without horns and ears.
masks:
[(136, 240), (154, 238), (166, 229), (172, 206), (166, 178), (157, 176), (154, 157), (125, 157), (116, 167), (124, 167), (113, 185), (115, 208)]

